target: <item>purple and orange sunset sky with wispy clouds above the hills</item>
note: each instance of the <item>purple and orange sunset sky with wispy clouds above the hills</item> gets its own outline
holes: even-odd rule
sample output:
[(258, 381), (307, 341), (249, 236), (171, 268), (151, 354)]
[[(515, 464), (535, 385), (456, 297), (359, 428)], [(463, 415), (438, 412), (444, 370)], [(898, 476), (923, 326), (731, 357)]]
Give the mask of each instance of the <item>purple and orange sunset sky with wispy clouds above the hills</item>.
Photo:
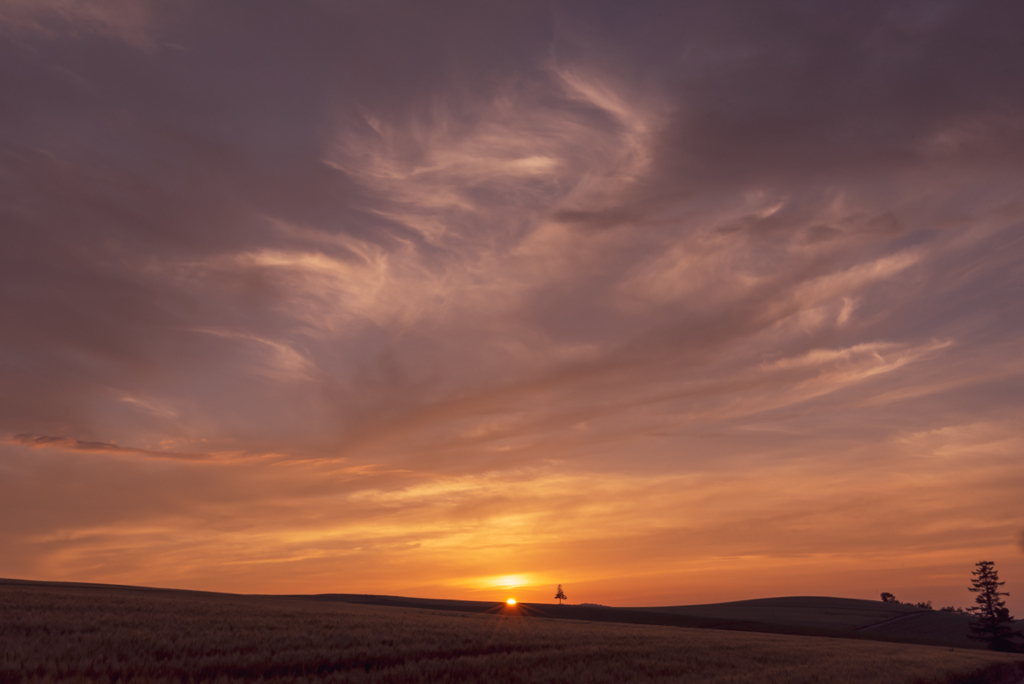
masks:
[(1024, 613), (1022, 24), (0, 0), (0, 576)]

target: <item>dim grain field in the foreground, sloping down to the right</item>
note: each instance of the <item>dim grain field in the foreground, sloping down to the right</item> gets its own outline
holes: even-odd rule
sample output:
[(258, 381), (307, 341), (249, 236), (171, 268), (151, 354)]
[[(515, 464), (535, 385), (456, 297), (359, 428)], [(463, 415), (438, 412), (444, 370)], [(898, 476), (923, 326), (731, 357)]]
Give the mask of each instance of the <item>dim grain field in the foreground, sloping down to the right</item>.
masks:
[(1021, 659), (914, 644), (549, 619), (497, 606), (479, 614), (0, 583), (0, 682), (945, 683)]

